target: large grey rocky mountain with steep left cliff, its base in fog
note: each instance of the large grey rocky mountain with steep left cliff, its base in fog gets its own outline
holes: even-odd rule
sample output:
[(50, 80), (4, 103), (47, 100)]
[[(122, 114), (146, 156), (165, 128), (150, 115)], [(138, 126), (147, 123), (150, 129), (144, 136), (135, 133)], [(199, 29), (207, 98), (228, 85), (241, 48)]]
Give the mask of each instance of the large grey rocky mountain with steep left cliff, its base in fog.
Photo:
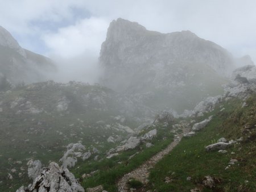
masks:
[(105, 86), (175, 110), (220, 94), (234, 69), (228, 51), (190, 31), (161, 34), (121, 18), (110, 23), (100, 62)]

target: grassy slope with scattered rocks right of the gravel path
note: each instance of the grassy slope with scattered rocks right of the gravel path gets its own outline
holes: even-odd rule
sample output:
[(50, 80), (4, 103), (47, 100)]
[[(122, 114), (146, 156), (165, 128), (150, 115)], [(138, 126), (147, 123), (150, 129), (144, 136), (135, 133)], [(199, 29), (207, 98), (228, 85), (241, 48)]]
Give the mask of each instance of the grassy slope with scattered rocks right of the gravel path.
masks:
[[(204, 188), (203, 191), (256, 191), (255, 95), (247, 100), (247, 104), (247, 107), (241, 108), (241, 101), (225, 102), (221, 104), (225, 107), (222, 112), (217, 112), (220, 110), (217, 106), (216, 112), (212, 112), (214, 118), (207, 127), (194, 137), (183, 138), (170, 155), (151, 170), (148, 188), (156, 191), (189, 191), (200, 188), (204, 176), (212, 176), (220, 182), (214, 189)], [(228, 148), (228, 153), (205, 151), (206, 145), (215, 143), (220, 137), (238, 139), (240, 136), (246, 138), (249, 134), (250, 139)], [(239, 162), (225, 170), (231, 158)], [(173, 172), (175, 174), (171, 175)], [(167, 176), (174, 181), (165, 183)], [(192, 177), (192, 180), (187, 181), (187, 177)]]

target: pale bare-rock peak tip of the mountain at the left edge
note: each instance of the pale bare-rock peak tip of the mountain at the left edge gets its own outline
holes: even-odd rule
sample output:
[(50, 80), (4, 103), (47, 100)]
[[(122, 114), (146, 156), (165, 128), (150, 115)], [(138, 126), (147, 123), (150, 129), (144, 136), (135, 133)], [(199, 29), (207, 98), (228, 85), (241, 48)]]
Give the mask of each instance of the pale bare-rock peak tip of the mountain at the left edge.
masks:
[(22, 47), (20, 47), (19, 43), (14, 39), (14, 37), (7, 31), (5, 28), (0, 26), (0, 45), (3, 47), (14, 49), (23, 57), (26, 57), (26, 52)]

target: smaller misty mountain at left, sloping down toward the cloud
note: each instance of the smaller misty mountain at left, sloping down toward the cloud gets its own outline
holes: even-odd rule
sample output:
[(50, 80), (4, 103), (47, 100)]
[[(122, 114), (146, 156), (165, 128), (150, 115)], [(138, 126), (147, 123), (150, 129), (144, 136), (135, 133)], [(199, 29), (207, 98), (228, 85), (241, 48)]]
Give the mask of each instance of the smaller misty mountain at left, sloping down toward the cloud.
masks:
[(0, 77), (12, 84), (47, 80), (46, 73), (55, 72), (53, 62), (20, 47), (13, 36), (0, 26)]

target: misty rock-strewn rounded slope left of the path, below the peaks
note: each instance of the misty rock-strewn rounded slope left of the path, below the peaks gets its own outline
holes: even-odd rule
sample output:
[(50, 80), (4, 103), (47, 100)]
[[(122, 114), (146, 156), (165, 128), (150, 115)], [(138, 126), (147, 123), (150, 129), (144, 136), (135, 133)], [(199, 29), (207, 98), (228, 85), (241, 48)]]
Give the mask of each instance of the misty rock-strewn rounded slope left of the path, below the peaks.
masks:
[(30, 160), (47, 166), (61, 159), (60, 165), (72, 168), (77, 161), (106, 158), (106, 151), (136, 135), (151, 115), (100, 85), (47, 81), (0, 92), (0, 191), (28, 183)]

